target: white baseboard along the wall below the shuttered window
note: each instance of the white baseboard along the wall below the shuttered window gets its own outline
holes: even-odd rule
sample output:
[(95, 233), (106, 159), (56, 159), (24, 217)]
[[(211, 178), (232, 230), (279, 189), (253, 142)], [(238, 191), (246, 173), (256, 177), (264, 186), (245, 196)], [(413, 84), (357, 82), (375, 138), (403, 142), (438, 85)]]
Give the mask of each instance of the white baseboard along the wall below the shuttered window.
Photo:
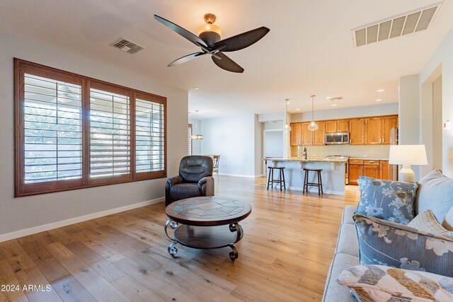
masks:
[(156, 198), (156, 199), (147, 200), (146, 202), (138, 202), (137, 204), (129, 204), (124, 207), (108, 209), (105, 211), (98, 211), (96, 213), (91, 213), (91, 214), (84, 215), (84, 216), (78, 216), (78, 217), (74, 217), (74, 218), (70, 218), (70, 219), (65, 219), (62, 221), (56, 221), (56, 222), (52, 222), (52, 223), (43, 224), (42, 226), (33, 226), (33, 228), (25, 228), (20, 231), (13, 231), (11, 233), (1, 234), (0, 242), (15, 239), (15, 238), (20, 238), (23, 236), (28, 236), (28, 235), (35, 234), (35, 233), (49, 231), (49, 230), (52, 230), (52, 228), (60, 228), (62, 226), (69, 226), (69, 224), (79, 223), (82, 221), (87, 221), (90, 219), (95, 219), (95, 218), (99, 218), (102, 216), (107, 216), (107, 215), (119, 213), (122, 211), (127, 211), (130, 209), (144, 207), (149, 204), (157, 204), (159, 202), (164, 202), (164, 200), (165, 200), (164, 197), (160, 197), (160, 198)]

